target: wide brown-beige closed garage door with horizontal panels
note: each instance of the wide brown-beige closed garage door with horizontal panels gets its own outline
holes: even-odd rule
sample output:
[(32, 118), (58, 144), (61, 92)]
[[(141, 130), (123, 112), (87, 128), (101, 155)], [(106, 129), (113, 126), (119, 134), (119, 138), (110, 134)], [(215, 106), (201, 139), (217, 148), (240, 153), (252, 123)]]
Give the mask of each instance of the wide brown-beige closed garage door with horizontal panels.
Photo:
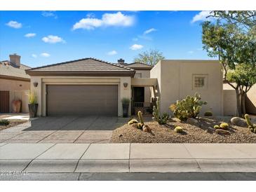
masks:
[(117, 116), (117, 85), (47, 85), (47, 115)]

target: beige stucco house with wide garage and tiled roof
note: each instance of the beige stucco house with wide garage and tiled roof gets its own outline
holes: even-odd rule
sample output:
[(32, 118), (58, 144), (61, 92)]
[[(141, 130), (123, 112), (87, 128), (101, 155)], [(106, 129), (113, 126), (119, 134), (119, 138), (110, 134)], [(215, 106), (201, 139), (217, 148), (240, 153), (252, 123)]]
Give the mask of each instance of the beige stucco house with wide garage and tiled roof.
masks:
[[(235, 115), (233, 90), (223, 89), (222, 66), (217, 60), (161, 60), (154, 67), (85, 58), (27, 69), (31, 90), (38, 97), (39, 116), (122, 116), (121, 99), (136, 107), (149, 107), (160, 99), (161, 112), (187, 95), (201, 94), (204, 111)], [(232, 97), (232, 100), (230, 100)]]

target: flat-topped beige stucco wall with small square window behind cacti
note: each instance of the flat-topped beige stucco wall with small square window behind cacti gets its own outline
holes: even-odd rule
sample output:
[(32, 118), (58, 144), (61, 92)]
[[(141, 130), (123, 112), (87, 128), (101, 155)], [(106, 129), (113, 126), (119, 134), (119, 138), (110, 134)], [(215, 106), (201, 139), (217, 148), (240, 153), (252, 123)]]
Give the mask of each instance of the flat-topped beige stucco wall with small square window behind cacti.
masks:
[[(159, 71), (161, 71), (159, 73)], [(193, 76), (206, 76), (205, 88), (194, 88)], [(151, 69), (151, 77), (158, 78), (158, 91), (161, 95), (161, 112), (170, 113), (170, 104), (182, 100), (187, 95), (201, 94), (208, 104), (203, 106), (201, 114), (213, 111), (222, 115), (222, 67), (217, 61), (204, 60), (161, 60)]]

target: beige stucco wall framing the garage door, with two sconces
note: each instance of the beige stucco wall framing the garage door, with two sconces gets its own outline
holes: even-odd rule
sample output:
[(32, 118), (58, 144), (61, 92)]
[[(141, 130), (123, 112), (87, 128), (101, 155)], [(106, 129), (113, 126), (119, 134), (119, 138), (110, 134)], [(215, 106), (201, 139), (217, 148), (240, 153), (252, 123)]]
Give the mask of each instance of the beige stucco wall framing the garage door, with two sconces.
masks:
[[(121, 98), (130, 98), (130, 76), (114, 76), (114, 77), (93, 77), (93, 76), (32, 76), (31, 90), (36, 92), (38, 97), (39, 116), (46, 116), (46, 85), (118, 85), (119, 86), (119, 103), (118, 114), (123, 115)], [(38, 86), (34, 88), (33, 83), (37, 82)], [(128, 83), (127, 88), (124, 88), (123, 83)], [(129, 109), (130, 114), (130, 109)]]

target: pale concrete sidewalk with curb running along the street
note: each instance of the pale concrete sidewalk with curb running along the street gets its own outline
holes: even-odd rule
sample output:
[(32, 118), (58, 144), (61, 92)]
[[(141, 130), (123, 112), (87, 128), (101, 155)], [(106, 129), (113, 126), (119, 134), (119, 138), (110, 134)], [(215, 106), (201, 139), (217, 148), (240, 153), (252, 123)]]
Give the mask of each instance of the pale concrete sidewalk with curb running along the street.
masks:
[(0, 172), (256, 172), (256, 144), (0, 144)]

